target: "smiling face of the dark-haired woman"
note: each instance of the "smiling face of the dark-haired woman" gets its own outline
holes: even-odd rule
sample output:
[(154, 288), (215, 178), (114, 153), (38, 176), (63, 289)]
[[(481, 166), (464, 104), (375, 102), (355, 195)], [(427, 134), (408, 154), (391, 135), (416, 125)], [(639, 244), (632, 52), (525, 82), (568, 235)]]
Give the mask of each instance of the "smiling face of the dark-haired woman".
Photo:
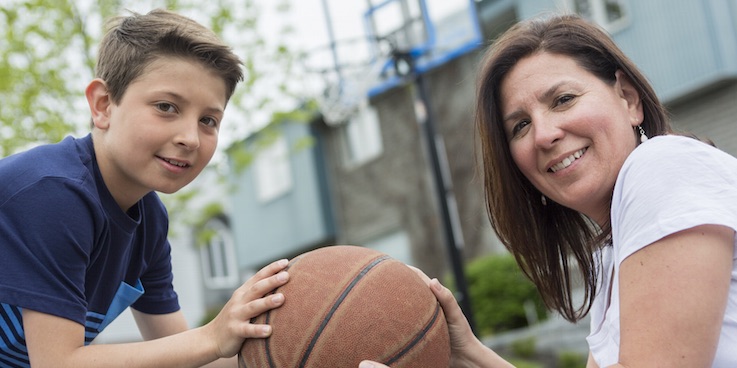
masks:
[(574, 59), (521, 59), (501, 83), (504, 131), (515, 164), (546, 197), (599, 224), (614, 182), (637, 145), (639, 94), (623, 73), (610, 85)]

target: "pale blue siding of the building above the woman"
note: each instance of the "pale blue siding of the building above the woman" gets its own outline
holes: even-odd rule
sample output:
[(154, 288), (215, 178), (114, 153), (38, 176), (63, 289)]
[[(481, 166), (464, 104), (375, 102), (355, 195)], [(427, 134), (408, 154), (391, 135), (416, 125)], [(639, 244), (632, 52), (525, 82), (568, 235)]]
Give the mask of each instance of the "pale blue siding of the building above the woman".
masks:
[[(561, 0), (519, 0), (525, 19), (561, 9)], [(629, 0), (630, 24), (614, 40), (664, 102), (737, 78), (737, 2)]]

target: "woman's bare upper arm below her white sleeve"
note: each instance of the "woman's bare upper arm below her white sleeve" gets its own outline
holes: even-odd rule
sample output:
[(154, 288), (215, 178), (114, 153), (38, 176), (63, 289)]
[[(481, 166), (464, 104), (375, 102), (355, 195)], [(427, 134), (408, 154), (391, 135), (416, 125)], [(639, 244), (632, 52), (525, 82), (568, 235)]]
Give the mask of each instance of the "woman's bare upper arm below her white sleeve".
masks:
[(729, 292), (734, 237), (725, 226), (697, 226), (622, 262), (617, 366), (711, 366)]

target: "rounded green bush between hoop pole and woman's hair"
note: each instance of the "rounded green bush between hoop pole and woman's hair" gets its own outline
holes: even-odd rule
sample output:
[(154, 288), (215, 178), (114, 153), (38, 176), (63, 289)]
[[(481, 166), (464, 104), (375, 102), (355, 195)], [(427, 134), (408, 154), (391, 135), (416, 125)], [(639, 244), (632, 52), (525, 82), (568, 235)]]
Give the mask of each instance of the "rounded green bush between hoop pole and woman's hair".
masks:
[(534, 306), (540, 320), (547, 318), (540, 294), (512, 255), (477, 258), (466, 266), (466, 277), (479, 335), (526, 327), (526, 302)]

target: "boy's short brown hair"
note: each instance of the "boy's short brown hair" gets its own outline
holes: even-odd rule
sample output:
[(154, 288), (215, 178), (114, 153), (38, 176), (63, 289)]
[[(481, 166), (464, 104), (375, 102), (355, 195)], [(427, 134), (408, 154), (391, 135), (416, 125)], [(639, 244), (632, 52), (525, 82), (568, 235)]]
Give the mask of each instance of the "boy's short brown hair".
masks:
[(100, 43), (95, 76), (105, 81), (117, 104), (131, 82), (164, 56), (201, 62), (225, 81), (228, 100), (243, 80), (240, 59), (211, 30), (163, 9), (111, 18)]

